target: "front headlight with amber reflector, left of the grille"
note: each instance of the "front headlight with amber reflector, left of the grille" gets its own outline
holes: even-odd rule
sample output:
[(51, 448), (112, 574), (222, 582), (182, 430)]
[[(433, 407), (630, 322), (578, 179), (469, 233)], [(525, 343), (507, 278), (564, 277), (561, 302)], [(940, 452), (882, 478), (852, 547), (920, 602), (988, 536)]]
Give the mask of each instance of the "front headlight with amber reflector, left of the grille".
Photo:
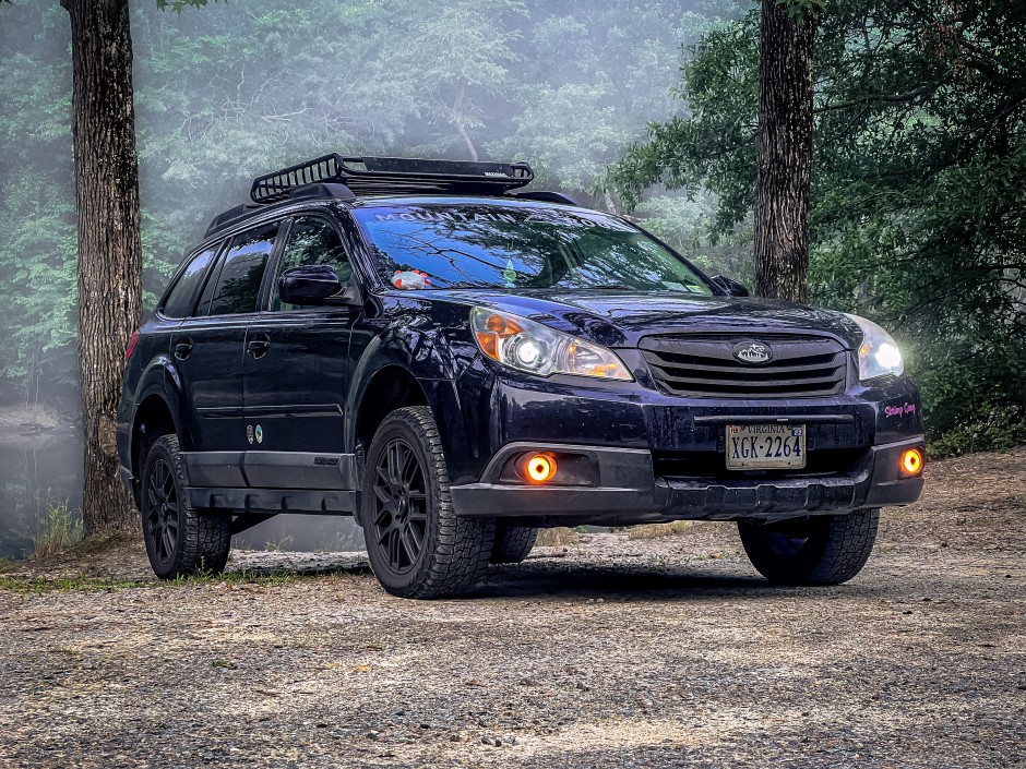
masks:
[(474, 308), (470, 329), (481, 352), (517, 371), (538, 376), (573, 374), (629, 382), (634, 379), (612, 350), (526, 317)]

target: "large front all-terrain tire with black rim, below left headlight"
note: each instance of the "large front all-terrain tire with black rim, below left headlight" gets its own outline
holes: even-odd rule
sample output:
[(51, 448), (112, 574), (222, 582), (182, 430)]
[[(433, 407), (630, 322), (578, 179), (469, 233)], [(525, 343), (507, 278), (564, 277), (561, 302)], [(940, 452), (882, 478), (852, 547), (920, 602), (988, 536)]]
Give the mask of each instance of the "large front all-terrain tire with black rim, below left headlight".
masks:
[[(387, 452), (393, 450), (405, 457), (395, 459), (396, 465), (406, 462), (402, 472), (389, 466)], [(409, 471), (409, 457), (419, 464), (419, 476), (416, 469)], [(496, 522), (456, 516), (442, 442), (429, 408), (410, 406), (385, 417), (370, 443), (365, 468), (363, 537), (371, 569), (385, 590), (403, 598), (445, 598), (481, 580)], [(411, 555), (418, 540), (419, 550)]]

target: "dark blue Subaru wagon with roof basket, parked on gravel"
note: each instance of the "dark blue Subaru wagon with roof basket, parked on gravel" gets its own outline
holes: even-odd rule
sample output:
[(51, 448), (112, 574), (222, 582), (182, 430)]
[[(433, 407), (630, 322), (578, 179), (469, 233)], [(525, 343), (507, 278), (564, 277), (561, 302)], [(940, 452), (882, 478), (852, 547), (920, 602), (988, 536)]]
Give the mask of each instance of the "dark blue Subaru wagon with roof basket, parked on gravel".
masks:
[(353, 515), (386, 590), (469, 589), (538, 529), (737, 521), (833, 585), (922, 489), (919, 395), (851, 315), (750, 299), (526, 164), (260, 177), (132, 337), (121, 472), (164, 578), (278, 513)]

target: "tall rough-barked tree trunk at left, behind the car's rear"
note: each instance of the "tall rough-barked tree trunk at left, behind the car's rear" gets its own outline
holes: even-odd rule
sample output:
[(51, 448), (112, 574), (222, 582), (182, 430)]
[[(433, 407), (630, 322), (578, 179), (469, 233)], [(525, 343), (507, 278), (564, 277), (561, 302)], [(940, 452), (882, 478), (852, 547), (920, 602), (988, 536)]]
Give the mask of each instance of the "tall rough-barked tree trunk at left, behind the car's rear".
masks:
[(128, 0), (62, 0), (71, 15), (79, 211), (79, 370), (85, 534), (134, 527), (118, 478), (115, 417), (124, 349), (142, 311), (139, 168)]

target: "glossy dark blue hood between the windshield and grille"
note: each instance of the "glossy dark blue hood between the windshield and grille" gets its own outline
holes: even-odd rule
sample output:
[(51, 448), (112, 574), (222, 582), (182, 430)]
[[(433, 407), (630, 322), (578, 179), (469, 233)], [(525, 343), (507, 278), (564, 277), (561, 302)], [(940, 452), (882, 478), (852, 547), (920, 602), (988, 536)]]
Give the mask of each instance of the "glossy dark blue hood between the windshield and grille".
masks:
[[(430, 297), (428, 295), (431, 295)], [(861, 331), (848, 317), (774, 299), (678, 292), (432, 290), (421, 298), (480, 305), (529, 317), (606, 347), (635, 347), (644, 336), (701, 332), (811, 332), (855, 347)]]

